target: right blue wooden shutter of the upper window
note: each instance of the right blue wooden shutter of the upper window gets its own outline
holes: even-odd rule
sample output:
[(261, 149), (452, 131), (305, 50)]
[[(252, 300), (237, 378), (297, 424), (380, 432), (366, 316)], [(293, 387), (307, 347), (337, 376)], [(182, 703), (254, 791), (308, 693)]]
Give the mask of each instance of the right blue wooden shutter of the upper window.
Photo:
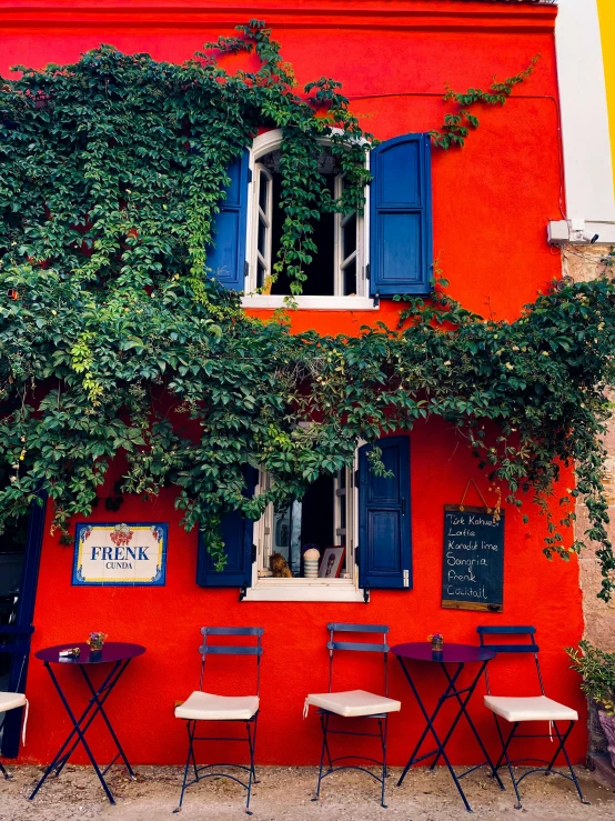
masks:
[(370, 292), (426, 294), (433, 262), (430, 136), (381, 143), (371, 171)]

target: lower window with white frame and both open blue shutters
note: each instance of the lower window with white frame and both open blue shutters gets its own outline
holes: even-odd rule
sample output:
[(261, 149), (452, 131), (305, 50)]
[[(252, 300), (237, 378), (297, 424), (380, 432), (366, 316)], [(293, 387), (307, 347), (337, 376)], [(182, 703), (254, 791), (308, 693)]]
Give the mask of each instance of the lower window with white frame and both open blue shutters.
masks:
[[(384, 474), (371, 469), (374, 447)], [(272, 481), (265, 471), (255, 474), (249, 493)], [(320, 477), (282, 510), (270, 504), (258, 522), (229, 513), (222, 535), (226, 567), (215, 571), (201, 542), (196, 581), (239, 588), (246, 601), (356, 602), (367, 601), (370, 590), (412, 589), (409, 438), (364, 444), (352, 469)], [(306, 550), (317, 557), (316, 578)]]

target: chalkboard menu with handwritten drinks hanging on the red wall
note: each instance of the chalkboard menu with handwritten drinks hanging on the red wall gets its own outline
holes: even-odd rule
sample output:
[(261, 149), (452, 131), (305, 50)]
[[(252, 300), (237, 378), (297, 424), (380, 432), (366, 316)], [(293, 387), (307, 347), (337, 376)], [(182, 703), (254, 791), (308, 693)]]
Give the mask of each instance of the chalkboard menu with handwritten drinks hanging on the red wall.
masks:
[(498, 612), (504, 603), (504, 513), (444, 505), (442, 607)]

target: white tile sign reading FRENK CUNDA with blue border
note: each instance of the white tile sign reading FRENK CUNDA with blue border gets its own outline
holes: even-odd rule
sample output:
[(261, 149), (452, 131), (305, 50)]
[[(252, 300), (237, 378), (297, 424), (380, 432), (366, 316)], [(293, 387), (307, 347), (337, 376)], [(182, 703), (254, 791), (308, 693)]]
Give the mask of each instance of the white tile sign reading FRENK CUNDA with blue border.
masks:
[(161, 587), (167, 577), (168, 524), (79, 522), (74, 585)]

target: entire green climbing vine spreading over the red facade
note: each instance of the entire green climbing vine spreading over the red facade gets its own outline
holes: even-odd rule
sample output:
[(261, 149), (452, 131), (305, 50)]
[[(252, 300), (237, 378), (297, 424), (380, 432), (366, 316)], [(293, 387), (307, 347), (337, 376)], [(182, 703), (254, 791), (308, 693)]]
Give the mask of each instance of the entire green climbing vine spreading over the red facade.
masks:
[[(230, 74), (220, 57), (240, 51), (252, 68)], [(42, 489), (68, 543), (72, 517), (90, 513), (122, 464), (123, 492), (173, 487), (184, 527), (200, 527), (222, 564), (225, 512), (255, 519), (351, 464), (360, 438), (438, 415), (510, 504), (541, 505), (548, 557), (581, 549), (564, 529), (572, 500), (587, 503), (609, 598), (601, 435), (615, 381), (613, 257), (594, 282), (557, 283), (515, 322), (470, 313), (436, 273), (431, 299), (399, 298), (396, 329), (293, 334), (284, 314), (245, 316), (209, 276), (212, 220), (233, 159), (260, 128), (282, 129), (273, 276), (301, 292), (316, 220), (361, 209), (369, 181), (373, 138), (340, 83), (298, 93), (258, 21), (182, 66), (103, 46), (20, 70), (0, 84), (0, 524)], [(530, 71), (447, 97), (475, 127), (474, 102), (504, 102)], [(462, 144), (465, 120), (447, 120), (435, 144)], [(337, 199), (319, 172), (323, 151), (345, 173)], [(550, 497), (573, 463), (557, 515)], [(258, 498), (243, 494), (245, 465), (274, 478)]]

